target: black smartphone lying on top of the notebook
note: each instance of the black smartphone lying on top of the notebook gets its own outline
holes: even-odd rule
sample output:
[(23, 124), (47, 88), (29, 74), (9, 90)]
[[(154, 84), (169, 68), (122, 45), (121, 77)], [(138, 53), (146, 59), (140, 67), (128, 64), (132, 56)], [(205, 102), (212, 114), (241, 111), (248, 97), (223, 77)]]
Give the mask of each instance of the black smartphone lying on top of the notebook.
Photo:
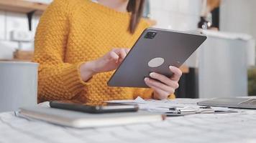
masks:
[(68, 109), (77, 112), (86, 112), (93, 114), (111, 113), (111, 112), (137, 112), (138, 105), (113, 104), (107, 102), (99, 103), (73, 103), (67, 101), (51, 101), (50, 107), (58, 109)]

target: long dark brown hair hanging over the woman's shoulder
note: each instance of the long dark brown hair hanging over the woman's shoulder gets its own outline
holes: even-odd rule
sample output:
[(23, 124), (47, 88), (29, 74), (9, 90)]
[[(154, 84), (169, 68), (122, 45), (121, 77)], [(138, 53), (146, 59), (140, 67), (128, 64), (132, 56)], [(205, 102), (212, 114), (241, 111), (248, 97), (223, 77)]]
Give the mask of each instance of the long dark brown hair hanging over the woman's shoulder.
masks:
[(132, 12), (129, 21), (129, 31), (133, 34), (142, 16), (145, 0), (129, 0), (127, 11)]

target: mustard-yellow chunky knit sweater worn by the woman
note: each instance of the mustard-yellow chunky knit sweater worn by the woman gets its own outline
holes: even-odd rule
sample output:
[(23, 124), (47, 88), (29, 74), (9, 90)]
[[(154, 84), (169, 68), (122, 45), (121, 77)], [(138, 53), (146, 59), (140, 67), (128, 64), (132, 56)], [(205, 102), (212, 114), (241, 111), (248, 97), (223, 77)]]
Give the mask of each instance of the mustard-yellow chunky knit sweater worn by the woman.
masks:
[(134, 34), (128, 31), (129, 13), (89, 0), (55, 0), (40, 19), (35, 36), (35, 62), (40, 63), (38, 99), (79, 100), (151, 98), (151, 89), (107, 87), (113, 71), (81, 80), (83, 62), (98, 59), (113, 48), (131, 48), (149, 26), (140, 21)]

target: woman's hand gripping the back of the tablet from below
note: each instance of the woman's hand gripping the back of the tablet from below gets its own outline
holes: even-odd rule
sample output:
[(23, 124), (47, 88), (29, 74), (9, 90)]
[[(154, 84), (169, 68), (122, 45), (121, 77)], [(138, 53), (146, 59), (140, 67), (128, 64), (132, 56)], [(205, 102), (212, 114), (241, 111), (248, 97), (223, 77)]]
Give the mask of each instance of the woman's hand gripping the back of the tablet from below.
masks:
[(150, 73), (150, 78), (145, 78), (147, 86), (154, 90), (154, 99), (167, 99), (170, 94), (175, 92), (175, 89), (178, 89), (178, 81), (182, 75), (182, 71), (175, 66), (170, 66), (169, 69), (173, 72), (170, 78), (155, 72)]

